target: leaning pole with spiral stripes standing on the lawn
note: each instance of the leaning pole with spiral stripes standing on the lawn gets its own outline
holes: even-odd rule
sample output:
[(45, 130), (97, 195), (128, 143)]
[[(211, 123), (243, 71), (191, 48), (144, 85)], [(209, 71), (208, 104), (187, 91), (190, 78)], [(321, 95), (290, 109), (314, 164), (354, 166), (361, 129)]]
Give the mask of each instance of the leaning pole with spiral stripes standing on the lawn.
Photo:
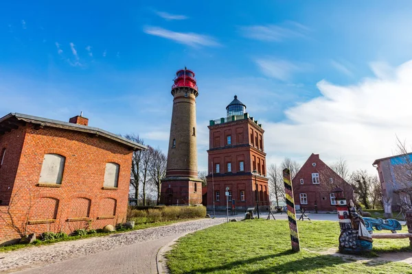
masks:
[(288, 220), (290, 228), (290, 240), (293, 251), (300, 251), (299, 231), (297, 230), (295, 200), (293, 200), (292, 180), (290, 179), (289, 169), (283, 170), (286, 204), (288, 205)]

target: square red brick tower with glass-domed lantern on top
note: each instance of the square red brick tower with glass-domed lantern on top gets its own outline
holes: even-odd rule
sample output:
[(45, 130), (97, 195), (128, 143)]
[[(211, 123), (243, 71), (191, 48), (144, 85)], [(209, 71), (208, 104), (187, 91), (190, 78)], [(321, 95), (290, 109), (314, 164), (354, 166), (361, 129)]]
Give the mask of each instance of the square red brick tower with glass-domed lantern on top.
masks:
[(227, 118), (211, 120), (209, 125), (207, 209), (213, 208), (213, 202), (216, 210), (226, 209), (227, 187), (229, 207), (233, 201), (236, 210), (255, 207), (258, 194), (260, 208), (266, 209), (269, 195), (262, 125), (249, 117), (236, 95), (226, 110)]

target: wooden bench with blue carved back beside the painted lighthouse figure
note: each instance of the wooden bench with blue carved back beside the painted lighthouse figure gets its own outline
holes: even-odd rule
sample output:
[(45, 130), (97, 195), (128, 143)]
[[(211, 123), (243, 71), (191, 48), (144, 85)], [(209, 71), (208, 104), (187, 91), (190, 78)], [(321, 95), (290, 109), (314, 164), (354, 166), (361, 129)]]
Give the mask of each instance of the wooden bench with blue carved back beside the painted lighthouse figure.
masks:
[[(412, 212), (411, 212), (412, 213)], [(371, 234), (374, 239), (400, 239), (409, 238), (412, 246), (412, 214), (407, 218), (408, 232), (409, 233), (397, 233), (396, 231), (402, 230), (402, 225), (400, 225), (398, 220), (395, 219), (374, 219), (369, 217), (363, 217), (365, 221), (365, 227), (367, 231)], [(374, 228), (376, 230), (389, 230), (391, 233), (378, 233), (373, 234)]]

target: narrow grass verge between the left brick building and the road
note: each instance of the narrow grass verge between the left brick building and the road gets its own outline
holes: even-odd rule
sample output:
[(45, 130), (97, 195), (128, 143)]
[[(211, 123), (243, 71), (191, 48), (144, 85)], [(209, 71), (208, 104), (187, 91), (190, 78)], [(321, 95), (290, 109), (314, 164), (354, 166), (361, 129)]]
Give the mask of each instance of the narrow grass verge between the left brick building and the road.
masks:
[(165, 222), (158, 222), (158, 223), (142, 223), (139, 225), (135, 225), (135, 228), (133, 229), (128, 229), (128, 230), (124, 230), (124, 231), (116, 231), (116, 232), (112, 232), (112, 233), (95, 233), (95, 234), (87, 234), (84, 236), (68, 236), (66, 238), (58, 238), (55, 240), (45, 240), (45, 241), (41, 241), (41, 242), (35, 242), (34, 244), (16, 244), (16, 245), (6, 245), (3, 247), (0, 247), (0, 253), (1, 252), (8, 252), (8, 251), (13, 251), (16, 249), (22, 249), (25, 247), (38, 247), (41, 245), (50, 245), (53, 244), (55, 242), (66, 242), (69, 240), (80, 240), (80, 239), (84, 239), (84, 238), (91, 238), (91, 237), (104, 237), (104, 236), (108, 236), (111, 234), (119, 234), (119, 233), (125, 233), (125, 232), (131, 232), (134, 230), (139, 230), (139, 229), (146, 229), (146, 228), (150, 228), (150, 227), (159, 227), (159, 226), (163, 226), (163, 225), (172, 225), (173, 223), (180, 223), (183, 221), (194, 221), (196, 219), (182, 219), (182, 220), (178, 220), (178, 221), (165, 221)]

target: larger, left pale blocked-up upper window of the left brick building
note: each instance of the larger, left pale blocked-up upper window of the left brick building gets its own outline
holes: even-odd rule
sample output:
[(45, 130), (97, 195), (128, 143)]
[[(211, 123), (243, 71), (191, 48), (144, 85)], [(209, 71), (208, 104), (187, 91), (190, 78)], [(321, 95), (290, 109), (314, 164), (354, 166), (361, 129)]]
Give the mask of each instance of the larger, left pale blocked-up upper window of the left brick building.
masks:
[(39, 183), (62, 184), (63, 170), (65, 169), (65, 156), (58, 154), (45, 154), (41, 166)]

